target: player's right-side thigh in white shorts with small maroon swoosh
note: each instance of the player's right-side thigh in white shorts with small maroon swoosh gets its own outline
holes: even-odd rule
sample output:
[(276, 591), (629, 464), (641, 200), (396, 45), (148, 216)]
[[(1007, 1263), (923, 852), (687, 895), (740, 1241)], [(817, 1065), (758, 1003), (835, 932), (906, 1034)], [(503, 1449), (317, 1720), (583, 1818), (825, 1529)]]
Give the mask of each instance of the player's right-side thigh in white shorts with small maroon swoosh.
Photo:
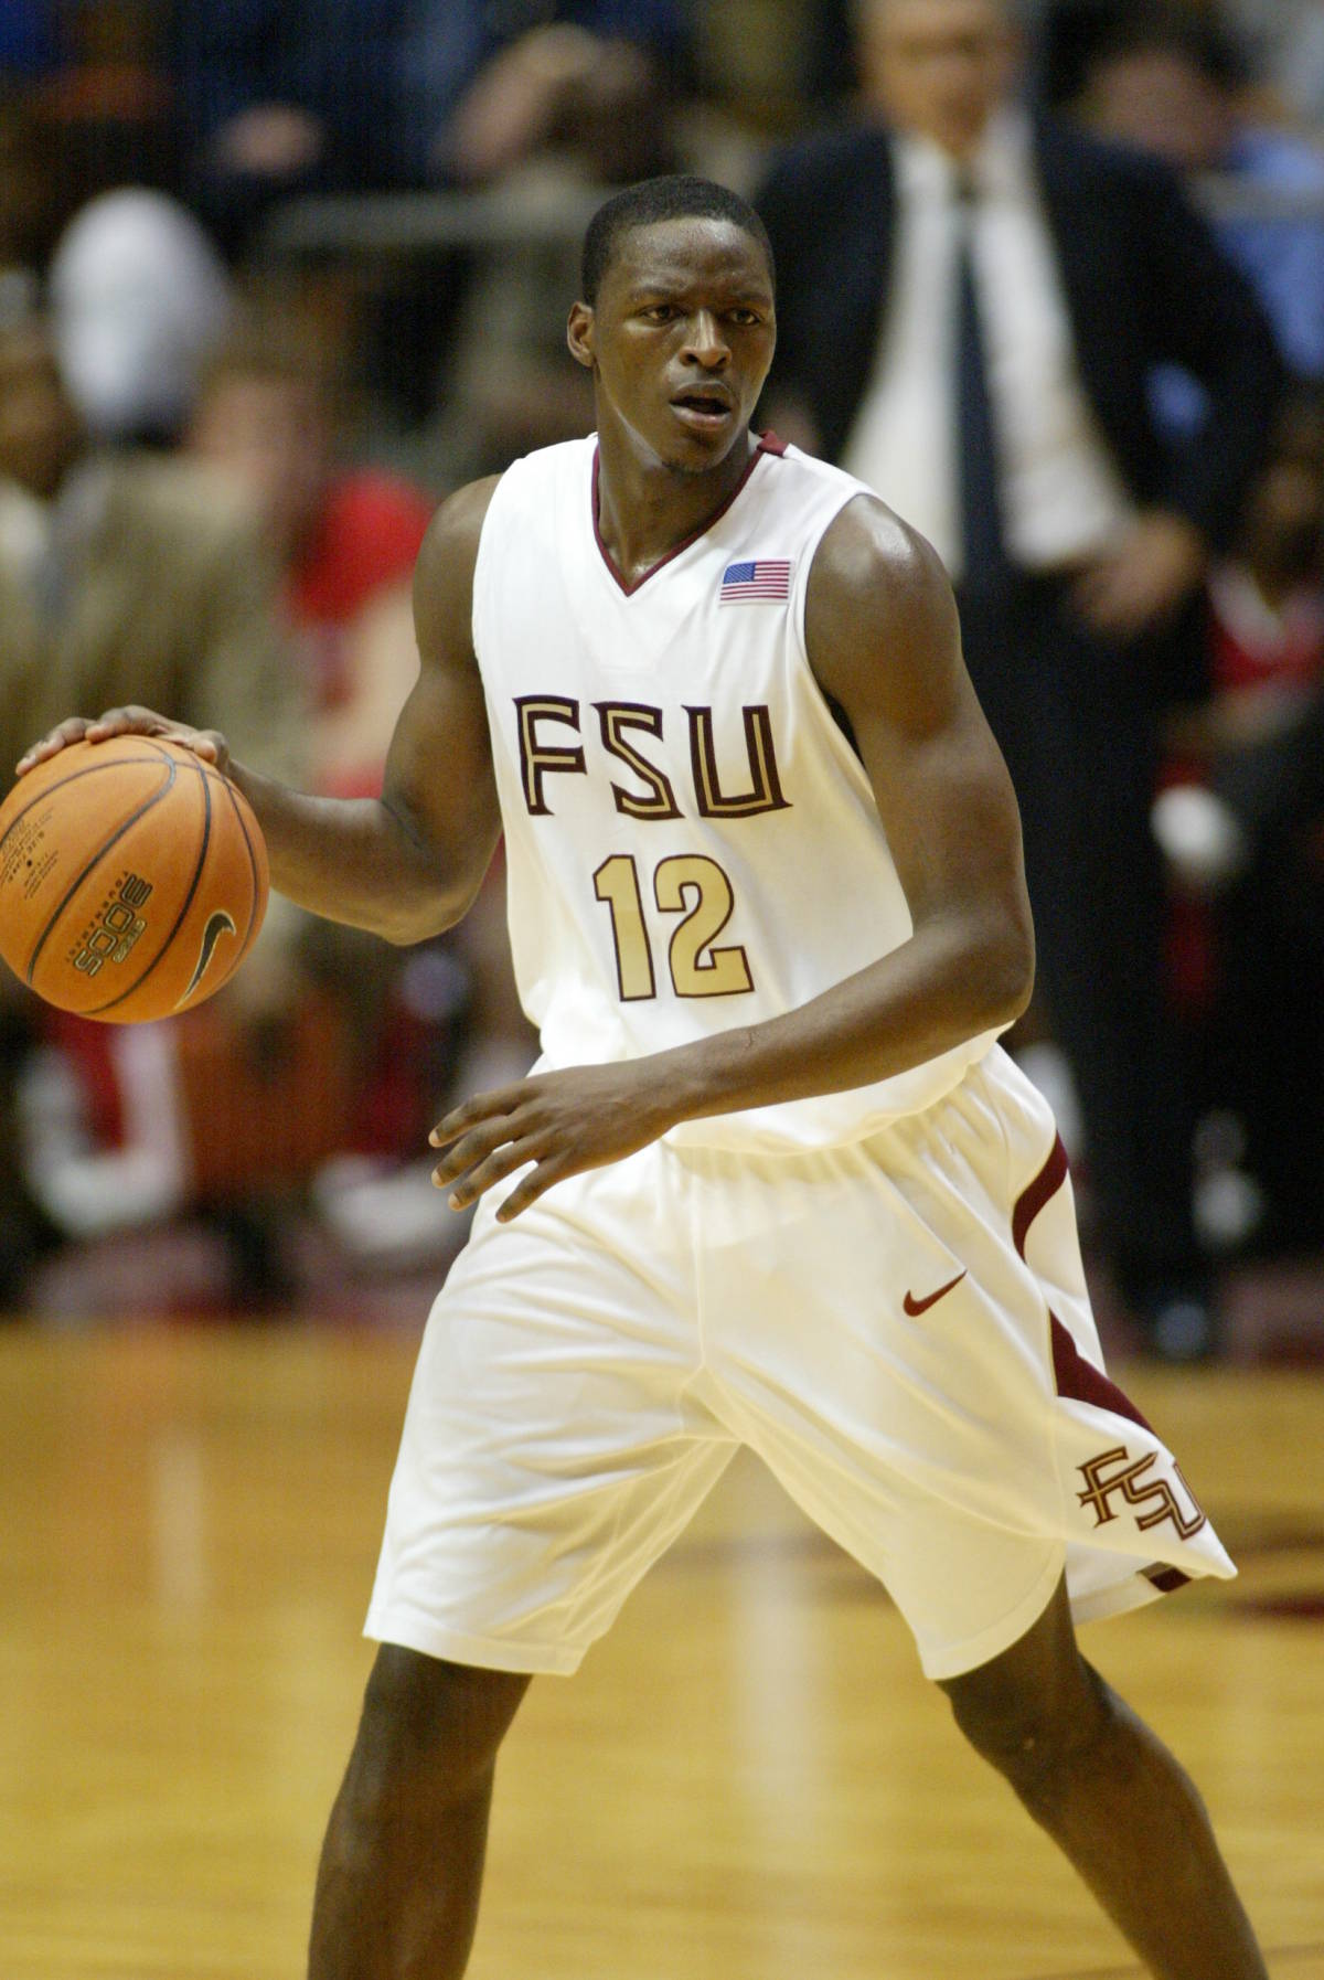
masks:
[(904, 1137), (709, 1168), (714, 1410), (885, 1582), (930, 1677), (990, 1661), (1065, 1564), (1049, 1319), (1011, 1239), (1005, 1121), (972, 1083)]

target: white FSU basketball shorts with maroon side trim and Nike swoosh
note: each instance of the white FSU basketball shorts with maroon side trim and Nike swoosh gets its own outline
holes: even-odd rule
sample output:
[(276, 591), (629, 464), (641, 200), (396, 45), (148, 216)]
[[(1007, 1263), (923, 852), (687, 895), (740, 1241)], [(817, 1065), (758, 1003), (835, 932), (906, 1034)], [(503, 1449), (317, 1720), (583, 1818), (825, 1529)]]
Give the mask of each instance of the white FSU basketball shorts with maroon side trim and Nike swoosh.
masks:
[(366, 1634), (572, 1671), (740, 1443), (887, 1586), (930, 1677), (1015, 1643), (1063, 1568), (1077, 1618), (1235, 1572), (1102, 1372), (1067, 1160), (999, 1047), (869, 1140), (657, 1142), (513, 1224), (481, 1206)]

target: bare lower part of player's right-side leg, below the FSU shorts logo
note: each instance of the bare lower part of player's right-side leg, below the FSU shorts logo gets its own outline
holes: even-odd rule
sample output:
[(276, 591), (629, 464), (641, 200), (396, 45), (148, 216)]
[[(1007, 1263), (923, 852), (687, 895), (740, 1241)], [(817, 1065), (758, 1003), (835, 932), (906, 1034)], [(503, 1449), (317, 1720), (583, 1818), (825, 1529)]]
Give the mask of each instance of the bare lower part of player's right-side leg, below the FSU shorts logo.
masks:
[(1150, 1972), (1267, 1980), (1199, 1794), (1077, 1649), (1065, 1584), (1019, 1643), (940, 1683)]

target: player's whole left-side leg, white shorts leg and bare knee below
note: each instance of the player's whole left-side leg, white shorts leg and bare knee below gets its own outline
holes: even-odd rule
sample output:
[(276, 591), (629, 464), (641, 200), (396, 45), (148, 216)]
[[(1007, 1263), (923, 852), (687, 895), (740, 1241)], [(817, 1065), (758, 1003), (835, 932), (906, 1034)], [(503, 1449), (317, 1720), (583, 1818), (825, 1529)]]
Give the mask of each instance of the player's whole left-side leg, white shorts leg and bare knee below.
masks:
[(687, 1394), (701, 1348), (671, 1166), (643, 1150), (572, 1176), (507, 1226), (481, 1206), (433, 1307), (311, 1980), (465, 1970), (495, 1756), (528, 1675), (578, 1667), (734, 1449)]

